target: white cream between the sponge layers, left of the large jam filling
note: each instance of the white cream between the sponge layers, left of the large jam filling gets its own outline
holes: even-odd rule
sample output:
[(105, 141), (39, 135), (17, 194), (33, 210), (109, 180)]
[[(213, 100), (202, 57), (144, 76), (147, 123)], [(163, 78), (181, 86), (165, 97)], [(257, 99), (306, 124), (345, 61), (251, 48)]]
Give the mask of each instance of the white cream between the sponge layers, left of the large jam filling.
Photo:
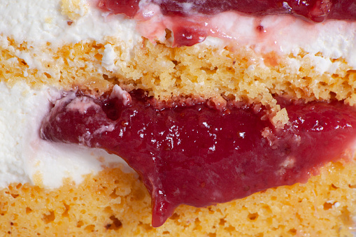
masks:
[(78, 184), (83, 175), (118, 165), (133, 172), (120, 157), (104, 150), (50, 143), (39, 137), (41, 120), (58, 94), (50, 87), (30, 89), (19, 82), (9, 88), (0, 82), (0, 187), (30, 182), (56, 188), (64, 178)]

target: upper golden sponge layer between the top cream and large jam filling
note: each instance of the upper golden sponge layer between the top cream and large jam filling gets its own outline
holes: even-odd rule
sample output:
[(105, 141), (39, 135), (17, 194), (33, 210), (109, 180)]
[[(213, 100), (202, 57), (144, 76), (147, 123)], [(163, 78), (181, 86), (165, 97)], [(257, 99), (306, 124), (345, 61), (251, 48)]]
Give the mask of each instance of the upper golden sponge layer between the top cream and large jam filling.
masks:
[[(103, 62), (108, 47), (115, 55), (110, 59), (112, 65)], [(261, 102), (277, 110), (276, 95), (356, 103), (356, 71), (340, 58), (332, 59), (338, 64), (334, 73), (320, 73), (306, 52), (257, 55), (248, 48), (169, 48), (147, 40), (129, 48), (114, 37), (106, 38), (106, 43), (76, 43), (58, 49), (45, 45), (41, 49), (45, 57), (29, 51), (27, 43), (17, 44), (10, 38), (0, 48), (0, 80), (8, 83), (25, 80), (31, 85), (76, 85), (99, 93), (120, 84), (125, 89), (145, 89), (163, 100), (191, 94), (226, 96)], [(38, 62), (34, 66), (31, 57), (23, 55)], [(299, 66), (291, 66), (292, 62)]]

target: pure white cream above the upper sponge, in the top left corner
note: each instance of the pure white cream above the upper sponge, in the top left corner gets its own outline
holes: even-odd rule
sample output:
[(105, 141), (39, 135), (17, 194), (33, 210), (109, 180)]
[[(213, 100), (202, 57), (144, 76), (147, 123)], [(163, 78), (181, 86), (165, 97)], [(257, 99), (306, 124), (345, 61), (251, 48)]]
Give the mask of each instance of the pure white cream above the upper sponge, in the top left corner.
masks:
[[(70, 19), (62, 9), (69, 4), (76, 19)], [(12, 0), (0, 1), (0, 33), (18, 43), (40, 47), (50, 42), (53, 47), (80, 41), (104, 41), (106, 36), (116, 36), (132, 45), (141, 36), (134, 30), (136, 22), (122, 15), (104, 14), (94, 5), (94, 0)]]

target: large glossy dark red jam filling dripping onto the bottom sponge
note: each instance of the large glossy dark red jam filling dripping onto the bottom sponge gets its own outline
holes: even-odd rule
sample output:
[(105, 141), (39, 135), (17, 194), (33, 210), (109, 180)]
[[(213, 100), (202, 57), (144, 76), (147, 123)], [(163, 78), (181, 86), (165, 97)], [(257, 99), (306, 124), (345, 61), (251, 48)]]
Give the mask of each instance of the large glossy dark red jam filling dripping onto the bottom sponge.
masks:
[(306, 182), (345, 156), (356, 134), (356, 112), (341, 102), (279, 99), (290, 122), (276, 129), (258, 106), (218, 110), (204, 101), (159, 108), (142, 93), (120, 93), (65, 96), (43, 120), (41, 137), (127, 161), (152, 196), (153, 227), (180, 204), (206, 207)]

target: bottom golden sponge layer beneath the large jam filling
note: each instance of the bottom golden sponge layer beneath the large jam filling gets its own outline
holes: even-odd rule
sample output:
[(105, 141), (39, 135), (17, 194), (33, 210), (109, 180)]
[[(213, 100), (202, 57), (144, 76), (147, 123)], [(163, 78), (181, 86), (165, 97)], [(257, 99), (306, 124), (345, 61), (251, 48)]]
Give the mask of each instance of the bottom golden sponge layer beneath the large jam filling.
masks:
[(106, 168), (80, 185), (1, 189), (0, 229), (5, 236), (352, 236), (355, 188), (356, 164), (337, 162), (306, 184), (208, 208), (180, 206), (155, 229), (136, 175)]

